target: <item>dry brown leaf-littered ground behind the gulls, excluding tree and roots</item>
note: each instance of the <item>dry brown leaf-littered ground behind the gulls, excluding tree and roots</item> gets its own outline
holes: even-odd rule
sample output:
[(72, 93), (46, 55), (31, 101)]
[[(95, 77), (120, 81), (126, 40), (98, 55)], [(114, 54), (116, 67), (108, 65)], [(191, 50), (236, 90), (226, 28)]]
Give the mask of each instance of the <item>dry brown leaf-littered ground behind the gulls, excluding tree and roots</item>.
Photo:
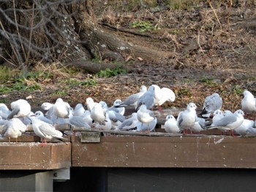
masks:
[[(156, 84), (176, 93), (176, 101), (165, 104), (166, 108), (186, 107), (191, 101), (202, 107), (204, 98), (217, 92), (222, 96), (223, 109), (237, 110), (244, 89), (256, 94), (255, 4), (237, 1), (228, 7), (225, 1), (211, 3), (205, 1), (186, 10), (170, 9), (165, 4), (154, 8), (137, 6), (128, 12), (124, 1), (96, 1), (99, 25), (113, 26), (102, 25), (103, 31), (145, 50), (158, 50), (161, 57), (148, 61), (134, 58), (132, 53), (124, 55), (131, 69), (127, 74), (97, 78), (97, 85), (86, 88), (74, 86), (65, 96), (53, 94), (61, 91), (64, 83), (60, 80), (67, 78), (57, 75), (54, 80), (42, 82), (42, 91), (15, 92), (1, 99), (14, 101), (32, 96), (31, 104), (39, 107), (44, 101), (62, 97), (75, 107), (91, 96), (111, 105), (115, 99), (138, 92), (140, 85)], [(142, 32), (132, 28), (130, 24), (135, 21), (149, 21), (155, 29)], [(87, 77), (93, 78), (87, 72), (73, 76), (79, 80)]]

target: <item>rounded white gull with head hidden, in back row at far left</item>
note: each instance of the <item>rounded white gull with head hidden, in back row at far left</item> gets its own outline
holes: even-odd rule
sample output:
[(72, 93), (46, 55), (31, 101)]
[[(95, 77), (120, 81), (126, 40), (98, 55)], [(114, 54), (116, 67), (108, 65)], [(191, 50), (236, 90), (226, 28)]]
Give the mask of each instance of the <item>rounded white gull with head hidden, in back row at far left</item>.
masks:
[(31, 106), (25, 99), (18, 99), (11, 103), (12, 112), (8, 115), (8, 119), (11, 118), (24, 118), (31, 112)]

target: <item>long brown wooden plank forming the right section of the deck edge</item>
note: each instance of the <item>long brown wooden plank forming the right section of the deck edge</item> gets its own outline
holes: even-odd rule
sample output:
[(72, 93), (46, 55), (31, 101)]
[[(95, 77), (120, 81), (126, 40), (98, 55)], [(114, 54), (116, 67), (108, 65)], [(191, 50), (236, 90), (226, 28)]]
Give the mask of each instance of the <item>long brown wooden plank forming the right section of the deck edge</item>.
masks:
[(244, 137), (102, 137), (74, 143), (72, 166), (256, 168), (256, 139)]

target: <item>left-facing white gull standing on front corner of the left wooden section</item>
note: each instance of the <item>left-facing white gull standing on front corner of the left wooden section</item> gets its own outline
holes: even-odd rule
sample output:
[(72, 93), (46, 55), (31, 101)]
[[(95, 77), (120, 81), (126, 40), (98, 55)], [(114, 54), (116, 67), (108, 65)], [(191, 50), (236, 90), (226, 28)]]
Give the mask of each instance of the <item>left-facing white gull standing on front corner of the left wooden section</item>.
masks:
[(29, 118), (31, 119), (34, 133), (42, 138), (41, 146), (46, 144), (46, 139), (65, 139), (61, 131), (56, 130), (54, 126), (49, 123), (45, 123), (44, 121), (35, 118), (34, 115), (30, 115)]

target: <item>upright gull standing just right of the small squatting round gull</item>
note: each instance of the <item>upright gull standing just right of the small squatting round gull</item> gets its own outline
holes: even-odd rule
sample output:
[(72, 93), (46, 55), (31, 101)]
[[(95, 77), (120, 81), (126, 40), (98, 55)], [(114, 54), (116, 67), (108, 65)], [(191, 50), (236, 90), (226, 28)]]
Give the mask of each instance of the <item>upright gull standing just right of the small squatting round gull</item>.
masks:
[(195, 111), (196, 108), (197, 106), (194, 103), (189, 103), (187, 105), (187, 110), (178, 113), (178, 127), (181, 131), (184, 131), (184, 133), (187, 129), (192, 133), (192, 126), (195, 125), (197, 118), (197, 113)]

